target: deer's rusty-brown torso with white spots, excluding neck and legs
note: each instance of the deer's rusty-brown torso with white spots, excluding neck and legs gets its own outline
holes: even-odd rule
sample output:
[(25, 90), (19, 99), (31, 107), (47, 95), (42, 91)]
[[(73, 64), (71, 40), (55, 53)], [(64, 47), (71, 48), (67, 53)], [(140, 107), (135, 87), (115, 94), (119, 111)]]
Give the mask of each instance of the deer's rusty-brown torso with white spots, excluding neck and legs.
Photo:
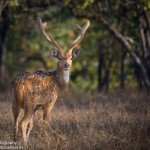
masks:
[(20, 107), (45, 103), (57, 96), (58, 86), (53, 72), (22, 72), (11, 84), (12, 101)]

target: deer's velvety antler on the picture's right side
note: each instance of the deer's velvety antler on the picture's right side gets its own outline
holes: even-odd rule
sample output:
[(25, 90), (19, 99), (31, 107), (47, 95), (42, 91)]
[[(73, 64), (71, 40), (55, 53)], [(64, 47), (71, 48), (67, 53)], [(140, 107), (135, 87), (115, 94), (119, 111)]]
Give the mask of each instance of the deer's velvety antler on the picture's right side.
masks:
[(83, 39), (85, 31), (88, 29), (88, 27), (90, 26), (90, 21), (87, 20), (86, 23), (84, 24), (83, 27), (80, 27), (79, 25), (76, 25), (77, 29), (79, 30), (79, 35), (76, 38), (75, 41), (73, 41), (69, 47), (68, 47), (68, 51), (72, 51), (73, 48), (75, 48)]

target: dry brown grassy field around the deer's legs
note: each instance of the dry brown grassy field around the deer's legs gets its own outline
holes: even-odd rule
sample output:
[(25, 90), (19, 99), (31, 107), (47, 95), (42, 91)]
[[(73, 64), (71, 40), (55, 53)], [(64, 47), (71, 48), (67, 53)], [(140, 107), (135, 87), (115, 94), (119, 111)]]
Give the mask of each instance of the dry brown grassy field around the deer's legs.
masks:
[[(13, 140), (12, 125), (10, 100), (1, 94), (0, 141)], [(20, 132), (17, 144), (22, 146)], [(148, 150), (150, 94), (64, 93), (47, 130), (42, 126), (42, 112), (36, 113), (28, 145), (30, 150)]]

